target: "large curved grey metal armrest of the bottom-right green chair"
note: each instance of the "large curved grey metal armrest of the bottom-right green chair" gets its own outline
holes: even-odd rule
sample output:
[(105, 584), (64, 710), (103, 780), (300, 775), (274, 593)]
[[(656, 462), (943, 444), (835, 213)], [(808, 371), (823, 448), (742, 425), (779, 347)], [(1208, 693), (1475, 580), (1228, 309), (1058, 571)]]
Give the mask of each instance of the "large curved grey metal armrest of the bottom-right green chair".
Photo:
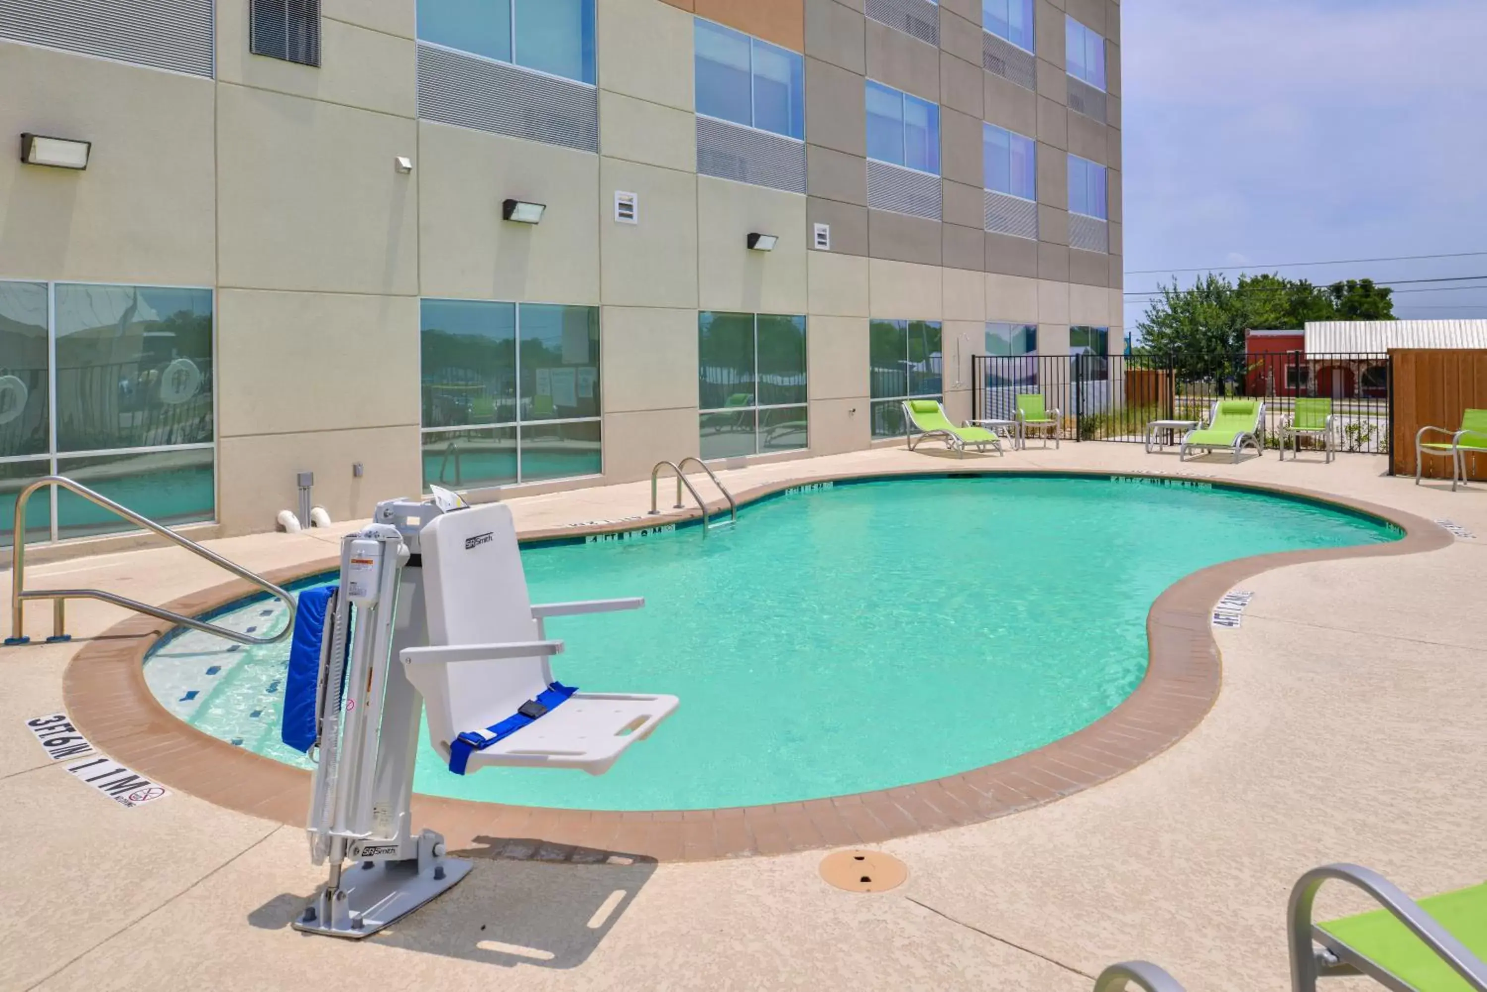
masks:
[[(1471, 952), (1466, 944), (1420, 906), (1404, 894), (1393, 882), (1371, 869), (1358, 864), (1323, 864), (1303, 875), (1291, 889), (1286, 907), (1286, 930), (1291, 941), (1291, 988), (1295, 992), (1315, 992), (1320, 968), (1313, 952), (1316, 928), (1312, 924), (1312, 903), (1317, 889), (1328, 880), (1347, 882), (1367, 892), (1401, 924), (1410, 928), (1420, 941), (1459, 974), (1477, 992), (1487, 992), (1487, 964)], [(1323, 941), (1325, 944), (1325, 941)]]

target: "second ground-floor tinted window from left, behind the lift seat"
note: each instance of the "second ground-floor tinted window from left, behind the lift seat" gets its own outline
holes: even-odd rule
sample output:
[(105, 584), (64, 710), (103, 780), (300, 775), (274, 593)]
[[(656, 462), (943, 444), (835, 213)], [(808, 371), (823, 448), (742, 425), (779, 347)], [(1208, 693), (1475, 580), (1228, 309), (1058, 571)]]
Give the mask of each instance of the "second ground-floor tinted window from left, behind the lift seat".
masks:
[(424, 485), (602, 471), (595, 306), (422, 302)]

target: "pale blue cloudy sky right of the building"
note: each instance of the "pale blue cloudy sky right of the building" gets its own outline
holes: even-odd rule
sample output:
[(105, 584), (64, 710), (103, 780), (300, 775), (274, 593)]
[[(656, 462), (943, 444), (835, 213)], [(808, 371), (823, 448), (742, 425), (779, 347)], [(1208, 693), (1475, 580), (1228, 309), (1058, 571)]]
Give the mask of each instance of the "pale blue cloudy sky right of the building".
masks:
[[(1129, 329), (1142, 292), (1203, 266), (1481, 275), (1398, 286), (1395, 314), (1487, 318), (1487, 0), (1124, 0), (1121, 13)], [(1465, 251), (1484, 254), (1276, 268)]]

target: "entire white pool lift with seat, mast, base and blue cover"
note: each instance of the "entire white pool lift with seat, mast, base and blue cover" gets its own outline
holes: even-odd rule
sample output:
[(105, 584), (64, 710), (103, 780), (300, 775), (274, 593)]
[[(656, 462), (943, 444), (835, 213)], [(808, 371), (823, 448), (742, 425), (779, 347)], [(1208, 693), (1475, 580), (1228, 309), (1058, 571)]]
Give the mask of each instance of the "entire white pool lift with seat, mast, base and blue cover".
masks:
[[(532, 605), (512, 512), (379, 503), (341, 543), (341, 583), (306, 589), (286, 680), (284, 739), (317, 759), (311, 861), (330, 880), (294, 928), (369, 937), (458, 883), (470, 861), (410, 824), (419, 715), (449, 770), (485, 766), (607, 772), (678, 705), (675, 696), (581, 693), (558, 683), (547, 617), (635, 610), (644, 599)], [(318, 610), (317, 610), (318, 599)], [(296, 665), (308, 677), (299, 678)], [(311, 708), (309, 699), (314, 699)], [(351, 861), (349, 867), (343, 863)]]

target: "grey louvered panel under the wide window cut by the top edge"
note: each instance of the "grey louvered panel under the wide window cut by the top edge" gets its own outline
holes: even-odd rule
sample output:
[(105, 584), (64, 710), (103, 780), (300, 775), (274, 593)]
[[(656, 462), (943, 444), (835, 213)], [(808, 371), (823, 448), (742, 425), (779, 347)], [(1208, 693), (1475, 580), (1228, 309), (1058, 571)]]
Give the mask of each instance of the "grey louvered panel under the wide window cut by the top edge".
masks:
[(520, 65), (418, 45), (418, 116), (599, 150), (599, 91)]

